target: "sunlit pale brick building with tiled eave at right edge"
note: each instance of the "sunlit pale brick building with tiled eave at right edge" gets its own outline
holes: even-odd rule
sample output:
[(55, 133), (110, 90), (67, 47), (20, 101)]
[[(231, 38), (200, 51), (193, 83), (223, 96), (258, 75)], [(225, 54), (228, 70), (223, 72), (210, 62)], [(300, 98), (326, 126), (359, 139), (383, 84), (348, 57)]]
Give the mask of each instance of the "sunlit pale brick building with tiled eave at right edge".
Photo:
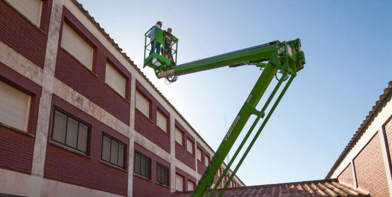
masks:
[(360, 125), (326, 179), (337, 178), (371, 196), (392, 193), (392, 81)]

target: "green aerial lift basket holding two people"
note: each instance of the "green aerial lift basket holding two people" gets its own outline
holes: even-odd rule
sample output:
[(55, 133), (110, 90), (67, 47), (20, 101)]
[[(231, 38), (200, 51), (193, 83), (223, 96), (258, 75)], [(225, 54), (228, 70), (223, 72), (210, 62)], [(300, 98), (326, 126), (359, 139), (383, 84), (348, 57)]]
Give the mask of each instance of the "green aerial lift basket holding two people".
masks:
[[(147, 39), (149, 39), (147, 35), (152, 30), (155, 30), (155, 38), (152, 42), (147, 43)], [(164, 44), (165, 37), (171, 38), (169, 46), (165, 46)], [(153, 68), (156, 76), (158, 76), (162, 71), (171, 69), (172, 66), (177, 64), (177, 43), (178, 39), (172, 34), (161, 30), (156, 26), (151, 27), (145, 34), (143, 68), (146, 66)], [(166, 57), (163, 56), (161, 51), (156, 53), (155, 46), (158, 44), (161, 46), (161, 51), (167, 54)], [(149, 49), (150, 47), (152, 47), (152, 52), (151, 49)], [(171, 53), (171, 55), (169, 53)]]

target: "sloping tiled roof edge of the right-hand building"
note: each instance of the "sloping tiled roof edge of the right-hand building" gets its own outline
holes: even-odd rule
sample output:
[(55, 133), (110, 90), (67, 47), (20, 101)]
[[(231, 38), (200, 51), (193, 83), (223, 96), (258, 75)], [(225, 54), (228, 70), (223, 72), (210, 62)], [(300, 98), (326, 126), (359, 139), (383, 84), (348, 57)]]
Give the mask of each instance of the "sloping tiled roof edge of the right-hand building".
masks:
[(327, 176), (325, 179), (329, 179), (333, 172), (336, 170), (336, 168), (340, 165), (340, 163), (343, 161), (343, 159), (346, 157), (347, 153), (351, 150), (352, 147), (354, 147), (355, 143), (359, 138), (362, 136), (362, 134), (366, 131), (369, 123), (371, 123), (371, 120), (375, 115), (378, 114), (378, 109), (382, 107), (381, 103), (387, 98), (387, 96), (392, 92), (392, 81), (388, 82), (388, 87), (384, 89), (384, 94), (380, 95), (380, 99), (376, 101), (376, 104), (372, 107), (372, 110), (369, 111), (369, 115), (366, 117), (366, 119), (362, 122), (362, 124), (359, 126), (358, 130), (355, 132), (353, 137), (351, 137), (350, 142), (347, 144), (346, 148), (344, 148), (343, 152), (340, 154), (339, 158), (335, 163), (333, 164), (331, 170), (328, 172)]

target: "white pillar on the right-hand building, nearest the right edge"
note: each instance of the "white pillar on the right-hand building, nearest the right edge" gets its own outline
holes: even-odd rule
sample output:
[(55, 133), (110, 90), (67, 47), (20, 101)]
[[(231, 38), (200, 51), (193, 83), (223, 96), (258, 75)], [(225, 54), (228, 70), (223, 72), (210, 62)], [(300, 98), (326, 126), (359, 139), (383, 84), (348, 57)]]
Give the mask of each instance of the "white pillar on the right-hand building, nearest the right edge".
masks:
[(381, 152), (382, 152), (382, 160), (384, 161), (386, 180), (388, 182), (388, 190), (389, 195), (392, 196), (392, 171), (391, 171), (391, 163), (390, 163), (390, 155), (388, 149), (388, 141), (386, 138), (385, 126), (382, 126), (378, 129), (378, 136), (380, 138)]

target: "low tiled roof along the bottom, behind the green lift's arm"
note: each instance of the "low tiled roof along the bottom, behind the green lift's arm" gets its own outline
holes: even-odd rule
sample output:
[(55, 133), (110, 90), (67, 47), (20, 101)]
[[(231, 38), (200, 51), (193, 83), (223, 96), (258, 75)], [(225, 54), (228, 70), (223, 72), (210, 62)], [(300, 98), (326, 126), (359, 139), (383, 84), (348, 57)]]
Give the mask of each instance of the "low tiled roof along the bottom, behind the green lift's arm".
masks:
[[(218, 189), (213, 196), (218, 196)], [(169, 196), (190, 196), (191, 191), (175, 192)], [(223, 196), (369, 196), (339, 183), (337, 179), (279, 183), (228, 188)]]

